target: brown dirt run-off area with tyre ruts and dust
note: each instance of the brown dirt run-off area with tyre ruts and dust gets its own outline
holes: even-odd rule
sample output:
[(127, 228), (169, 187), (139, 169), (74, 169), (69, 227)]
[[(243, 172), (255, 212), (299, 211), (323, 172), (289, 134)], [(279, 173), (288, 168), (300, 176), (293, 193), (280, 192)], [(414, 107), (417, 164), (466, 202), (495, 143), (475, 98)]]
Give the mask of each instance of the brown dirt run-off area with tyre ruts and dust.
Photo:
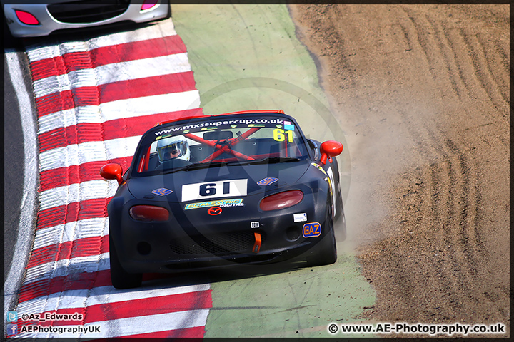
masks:
[(377, 293), (360, 318), (509, 336), (509, 6), (289, 10), (351, 154), (348, 240)]

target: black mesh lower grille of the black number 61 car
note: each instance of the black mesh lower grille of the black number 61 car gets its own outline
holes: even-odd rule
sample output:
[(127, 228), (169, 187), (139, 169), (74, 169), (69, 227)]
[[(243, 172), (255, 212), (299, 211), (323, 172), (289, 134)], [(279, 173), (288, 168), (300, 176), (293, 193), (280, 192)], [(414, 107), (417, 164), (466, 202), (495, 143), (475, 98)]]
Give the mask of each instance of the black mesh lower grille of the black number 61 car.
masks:
[[(191, 241), (193, 240), (193, 241)], [(176, 254), (226, 254), (250, 253), (255, 243), (253, 232), (231, 232), (211, 237), (191, 237), (187, 243), (171, 241), (170, 248)]]

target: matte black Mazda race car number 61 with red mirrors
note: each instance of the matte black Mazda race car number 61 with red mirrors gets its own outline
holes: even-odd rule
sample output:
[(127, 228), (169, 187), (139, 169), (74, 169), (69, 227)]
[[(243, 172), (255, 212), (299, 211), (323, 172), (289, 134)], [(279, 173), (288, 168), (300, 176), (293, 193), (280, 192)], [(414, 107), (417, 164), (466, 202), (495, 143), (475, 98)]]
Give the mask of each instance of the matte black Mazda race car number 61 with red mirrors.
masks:
[[(158, 123), (107, 207), (114, 287), (161, 273), (301, 259), (337, 259), (333, 222), (343, 202), (336, 155), (343, 145), (303, 135), (282, 110)], [(123, 175), (123, 176), (122, 176)]]

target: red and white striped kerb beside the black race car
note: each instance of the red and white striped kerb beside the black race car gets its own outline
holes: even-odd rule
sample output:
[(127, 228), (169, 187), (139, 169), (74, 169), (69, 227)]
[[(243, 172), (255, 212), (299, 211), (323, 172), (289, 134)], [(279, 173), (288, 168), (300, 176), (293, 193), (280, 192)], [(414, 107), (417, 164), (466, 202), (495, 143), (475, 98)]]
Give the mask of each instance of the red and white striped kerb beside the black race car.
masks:
[(31, 324), (80, 325), (99, 326), (101, 333), (16, 337), (203, 337), (209, 284), (119, 291), (109, 276), (106, 204), (118, 184), (101, 178), (100, 167), (116, 162), (126, 170), (139, 138), (156, 122), (203, 114), (172, 21), (27, 46), (26, 53), (38, 113), (39, 213), (16, 311), (83, 319), (14, 323), (18, 331)]

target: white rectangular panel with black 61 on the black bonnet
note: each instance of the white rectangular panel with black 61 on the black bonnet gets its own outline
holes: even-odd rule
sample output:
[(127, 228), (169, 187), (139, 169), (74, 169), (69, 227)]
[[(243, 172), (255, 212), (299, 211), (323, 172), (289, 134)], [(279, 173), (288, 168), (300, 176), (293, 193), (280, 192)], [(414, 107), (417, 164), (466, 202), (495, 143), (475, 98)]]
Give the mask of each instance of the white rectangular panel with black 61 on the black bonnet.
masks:
[(182, 185), (182, 202), (246, 196), (248, 180), (220, 180)]

